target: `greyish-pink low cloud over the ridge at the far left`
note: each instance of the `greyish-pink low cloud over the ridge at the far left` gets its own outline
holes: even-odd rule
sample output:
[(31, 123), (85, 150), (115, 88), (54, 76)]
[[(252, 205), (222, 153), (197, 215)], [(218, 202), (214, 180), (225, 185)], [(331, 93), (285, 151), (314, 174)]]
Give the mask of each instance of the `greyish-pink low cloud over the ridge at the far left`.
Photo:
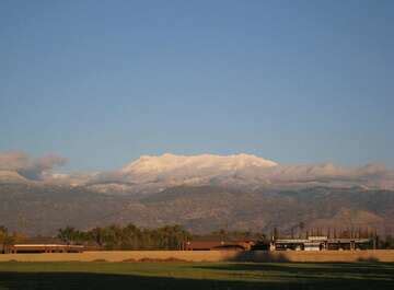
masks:
[(67, 159), (57, 154), (47, 154), (35, 159), (19, 151), (0, 152), (1, 171), (16, 171), (28, 179), (42, 179), (43, 174), (66, 163)]

